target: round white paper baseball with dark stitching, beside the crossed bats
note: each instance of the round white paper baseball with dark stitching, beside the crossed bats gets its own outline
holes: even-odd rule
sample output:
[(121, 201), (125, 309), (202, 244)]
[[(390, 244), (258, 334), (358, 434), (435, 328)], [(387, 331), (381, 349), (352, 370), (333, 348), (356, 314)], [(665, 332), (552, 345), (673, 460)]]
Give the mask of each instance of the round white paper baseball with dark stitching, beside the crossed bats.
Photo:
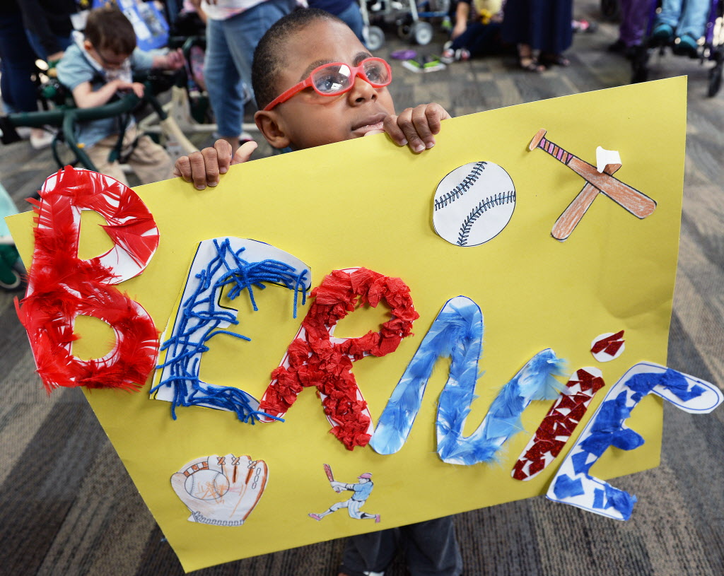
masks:
[(435, 190), (435, 232), (456, 246), (479, 246), (508, 225), (515, 209), (515, 185), (508, 172), (492, 162), (456, 168)]

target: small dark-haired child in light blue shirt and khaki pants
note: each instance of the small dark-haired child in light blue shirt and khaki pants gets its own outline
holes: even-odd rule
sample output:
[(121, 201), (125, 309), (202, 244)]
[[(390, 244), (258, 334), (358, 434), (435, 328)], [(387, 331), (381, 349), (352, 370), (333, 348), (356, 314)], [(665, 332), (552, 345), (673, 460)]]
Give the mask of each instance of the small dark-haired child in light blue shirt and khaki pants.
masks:
[[(180, 51), (151, 56), (138, 50), (131, 23), (118, 9), (104, 7), (88, 14), (85, 41), (70, 46), (56, 70), (58, 80), (72, 90), (76, 105), (91, 108), (108, 103), (126, 90), (142, 97), (143, 84), (132, 81), (133, 72), (182, 66)], [(123, 131), (121, 122), (119, 117), (83, 122), (77, 141), (99, 172), (127, 184), (118, 161), (109, 158)], [(172, 159), (151, 138), (139, 136), (132, 119), (125, 130), (120, 156), (128, 157), (128, 164), (143, 184), (172, 176)]]

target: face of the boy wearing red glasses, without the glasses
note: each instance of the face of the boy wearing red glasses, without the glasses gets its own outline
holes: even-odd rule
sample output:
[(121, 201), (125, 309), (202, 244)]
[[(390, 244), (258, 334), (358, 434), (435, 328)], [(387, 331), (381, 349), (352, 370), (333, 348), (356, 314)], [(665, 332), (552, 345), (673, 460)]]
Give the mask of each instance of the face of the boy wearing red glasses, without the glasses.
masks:
[[(339, 22), (317, 20), (285, 43), (286, 67), (277, 81), (281, 94), (308, 77), (316, 67), (330, 62), (357, 66), (371, 54), (352, 30)], [(382, 130), (382, 120), (395, 114), (387, 88), (372, 86), (355, 77), (353, 88), (339, 96), (319, 96), (306, 88), (268, 112), (256, 113), (257, 124), (275, 148), (312, 148), (361, 137)], [(273, 130), (264, 130), (273, 122)]]

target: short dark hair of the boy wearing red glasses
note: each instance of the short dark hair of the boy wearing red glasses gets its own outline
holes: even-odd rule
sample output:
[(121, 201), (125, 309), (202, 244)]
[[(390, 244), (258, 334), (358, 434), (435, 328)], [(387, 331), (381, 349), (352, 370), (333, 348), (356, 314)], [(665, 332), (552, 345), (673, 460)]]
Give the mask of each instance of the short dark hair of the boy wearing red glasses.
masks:
[(284, 56), (287, 38), (316, 20), (329, 20), (345, 25), (345, 22), (324, 10), (300, 8), (277, 20), (261, 37), (251, 65), (251, 85), (259, 110), (263, 110), (264, 106), (279, 96), (277, 81), (286, 64)]

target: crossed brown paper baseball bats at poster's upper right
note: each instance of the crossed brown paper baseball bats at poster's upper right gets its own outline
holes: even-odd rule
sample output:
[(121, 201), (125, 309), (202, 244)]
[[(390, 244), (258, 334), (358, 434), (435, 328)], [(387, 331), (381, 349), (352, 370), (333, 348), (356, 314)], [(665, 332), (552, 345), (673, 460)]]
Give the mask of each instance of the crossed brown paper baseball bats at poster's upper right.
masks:
[(603, 172), (599, 172), (596, 166), (581, 160), (578, 156), (573, 156), (568, 151), (563, 150), (560, 146), (547, 140), (544, 136), (545, 130), (538, 130), (528, 146), (529, 150), (540, 148), (542, 151), (549, 153), (558, 161), (563, 162), (568, 168), (576, 172), (586, 180), (586, 185), (581, 192), (578, 192), (576, 198), (573, 199), (565, 208), (565, 211), (555, 221), (551, 231), (552, 237), (556, 240), (565, 240), (571, 235), (573, 229), (581, 218), (583, 218), (586, 210), (592, 205), (593, 201), (599, 195), (599, 192), (607, 195), (608, 198), (618, 203), (619, 206), (626, 208), (636, 218), (644, 219), (650, 216), (656, 209), (656, 202), (639, 192), (636, 188), (624, 184), (619, 179), (614, 178), (613, 174), (617, 171), (620, 164), (607, 164)]

